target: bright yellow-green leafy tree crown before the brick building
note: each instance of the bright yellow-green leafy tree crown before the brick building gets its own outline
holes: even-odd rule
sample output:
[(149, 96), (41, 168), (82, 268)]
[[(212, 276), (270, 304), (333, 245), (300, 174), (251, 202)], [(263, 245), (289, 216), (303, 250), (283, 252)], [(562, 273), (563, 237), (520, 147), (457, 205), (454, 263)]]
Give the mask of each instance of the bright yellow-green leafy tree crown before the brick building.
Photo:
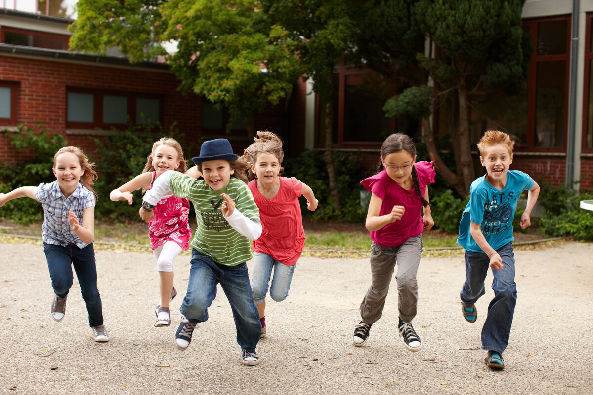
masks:
[[(254, 115), (285, 98), (302, 73), (298, 43), (254, 0), (80, 0), (77, 7), (72, 48), (119, 47), (132, 62), (165, 56), (182, 89), (228, 106), (251, 137)], [(170, 41), (174, 54), (163, 47)]]

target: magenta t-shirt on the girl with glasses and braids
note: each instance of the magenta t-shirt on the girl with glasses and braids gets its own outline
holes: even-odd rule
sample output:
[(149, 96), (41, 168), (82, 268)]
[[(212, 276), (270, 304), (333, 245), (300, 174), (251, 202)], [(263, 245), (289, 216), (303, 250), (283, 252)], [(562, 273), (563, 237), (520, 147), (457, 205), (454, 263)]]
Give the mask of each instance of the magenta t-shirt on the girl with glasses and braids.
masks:
[[(424, 195), (426, 186), (435, 182), (435, 169), (432, 162), (420, 161), (415, 165), (418, 173), (420, 192)], [(395, 182), (386, 170), (381, 170), (374, 176), (361, 181), (361, 184), (368, 192), (374, 193), (377, 198), (383, 200), (379, 215), (385, 215), (393, 209), (393, 206), (404, 206), (406, 212), (400, 221), (383, 226), (378, 231), (371, 232), (371, 239), (382, 247), (395, 247), (403, 244), (410, 237), (422, 233), (422, 202), (415, 189), (407, 190)]]

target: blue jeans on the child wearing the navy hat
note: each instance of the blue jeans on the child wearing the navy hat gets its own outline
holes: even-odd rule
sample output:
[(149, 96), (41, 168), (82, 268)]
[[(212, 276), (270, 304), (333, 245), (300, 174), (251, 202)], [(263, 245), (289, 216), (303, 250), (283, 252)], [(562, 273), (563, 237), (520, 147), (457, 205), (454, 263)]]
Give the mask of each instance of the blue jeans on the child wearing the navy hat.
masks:
[(187, 293), (179, 309), (181, 314), (191, 323), (208, 320), (208, 307), (212, 305), (216, 297), (216, 286), (220, 283), (235, 319), (237, 343), (241, 348), (255, 352), (262, 335), (262, 323), (253, 303), (247, 264), (221, 265), (208, 255), (200, 254), (195, 248), (192, 248), (191, 264)]

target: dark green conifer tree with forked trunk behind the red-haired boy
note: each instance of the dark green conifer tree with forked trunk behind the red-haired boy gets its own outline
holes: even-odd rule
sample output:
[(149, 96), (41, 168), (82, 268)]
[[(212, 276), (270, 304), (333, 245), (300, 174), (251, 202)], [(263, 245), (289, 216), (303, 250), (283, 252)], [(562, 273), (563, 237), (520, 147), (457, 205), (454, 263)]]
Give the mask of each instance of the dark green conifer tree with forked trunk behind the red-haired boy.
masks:
[[(466, 196), (475, 179), (470, 103), (517, 93), (524, 87), (528, 75), (532, 48), (521, 28), (525, 0), (391, 0), (384, 3), (410, 10), (400, 14), (409, 17), (401, 23), (413, 29), (417, 27), (441, 51), (438, 60), (423, 52), (417, 53), (417, 64), (426, 70), (429, 78), (422, 85), (412, 86), (391, 98), (384, 109), (387, 116), (422, 120), (423, 137), (436, 169), (460, 196)], [(381, 40), (380, 35), (376, 36)], [(394, 48), (392, 53), (409, 54), (409, 46), (403, 46), (405, 42), (398, 43), (397, 37), (388, 33), (384, 37), (384, 46)], [(376, 60), (372, 64), (378, 68)], [(435, 84), (438, 90), (432, 88)], [(458, 127), (451, 134), (455, 171), (449, 169), (439, 155), (429, 122), (433, 106), (448, 95), (454, 95), (458, 103)]]

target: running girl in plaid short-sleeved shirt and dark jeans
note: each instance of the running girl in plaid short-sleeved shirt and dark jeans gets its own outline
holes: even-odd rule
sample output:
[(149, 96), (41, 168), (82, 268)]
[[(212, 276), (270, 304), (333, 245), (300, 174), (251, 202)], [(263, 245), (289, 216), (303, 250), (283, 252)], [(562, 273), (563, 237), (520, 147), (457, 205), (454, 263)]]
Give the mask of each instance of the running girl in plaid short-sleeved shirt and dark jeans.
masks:
[(93, 190), (97, 179), (94, 166), (80, 148), (60, 148), (53, 157), (52, 171), (56, 181), (0, 193), (0, 206), (8, 200), (23, 197), (42, 203), (43, 252), (54, 293), (50, 306), (52, 318), (61, 321), (66, 314), (66, 298), (74, 280), (74, 266), (93, 337), (97, 342), (106, 342), (109, 334), (103, 324), (93, 247), (97, 200)]

